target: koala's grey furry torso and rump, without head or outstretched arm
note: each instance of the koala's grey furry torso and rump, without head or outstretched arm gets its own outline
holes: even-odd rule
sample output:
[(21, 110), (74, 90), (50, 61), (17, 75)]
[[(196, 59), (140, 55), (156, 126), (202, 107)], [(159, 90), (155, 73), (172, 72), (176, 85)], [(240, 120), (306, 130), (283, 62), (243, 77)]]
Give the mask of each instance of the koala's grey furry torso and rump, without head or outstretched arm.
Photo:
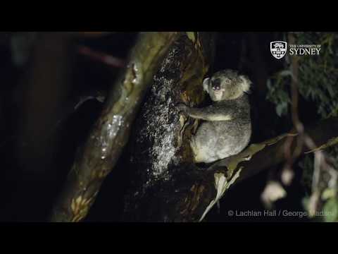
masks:
[(192, 139), (196, 162), (215, 162), (241, 152), (249, 144), (251, 119), (249, 100), (246, 95), (221, 102), (225, 114), (232, 115), (229, 121), (204, 121)]

